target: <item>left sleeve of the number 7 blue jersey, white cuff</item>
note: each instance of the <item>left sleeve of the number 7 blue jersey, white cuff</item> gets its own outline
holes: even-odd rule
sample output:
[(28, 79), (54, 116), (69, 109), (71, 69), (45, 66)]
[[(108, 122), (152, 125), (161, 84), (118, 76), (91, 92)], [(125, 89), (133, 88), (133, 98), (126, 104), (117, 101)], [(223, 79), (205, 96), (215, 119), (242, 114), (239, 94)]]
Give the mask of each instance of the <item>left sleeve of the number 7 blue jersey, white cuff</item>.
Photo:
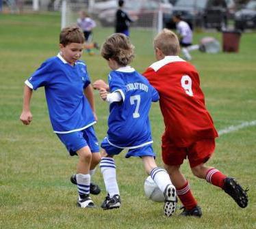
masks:
[(123, 101), (125, 101), (125, 94), (127, 90), (123, 79), (120, 76), (116, 75), (114, 72), (110, 72), (110, 74), (108, 75), (108, 83), (110, 85), (110, 93), (114, 91), (119, 91), (123, 97)]

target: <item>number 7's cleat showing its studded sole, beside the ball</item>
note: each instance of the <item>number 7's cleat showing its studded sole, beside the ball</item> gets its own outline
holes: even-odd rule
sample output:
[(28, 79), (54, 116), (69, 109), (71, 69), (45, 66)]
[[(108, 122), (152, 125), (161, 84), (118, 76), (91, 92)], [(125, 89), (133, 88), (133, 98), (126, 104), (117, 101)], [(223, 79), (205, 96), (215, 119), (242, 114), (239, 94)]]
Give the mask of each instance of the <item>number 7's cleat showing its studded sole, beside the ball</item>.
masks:
[(177, 208), (177, 194), (173, 185), (167, 185), (164, 190), (164, 215), (170, 217), (173, 215)]

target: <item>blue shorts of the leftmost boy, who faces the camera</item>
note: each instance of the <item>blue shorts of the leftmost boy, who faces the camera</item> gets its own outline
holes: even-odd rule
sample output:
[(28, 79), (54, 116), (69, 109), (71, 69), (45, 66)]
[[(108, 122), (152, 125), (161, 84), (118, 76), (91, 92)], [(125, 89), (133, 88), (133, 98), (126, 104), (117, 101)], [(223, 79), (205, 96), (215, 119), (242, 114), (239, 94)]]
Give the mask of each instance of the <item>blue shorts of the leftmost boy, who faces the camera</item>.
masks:
[(99, 152), (99, 143), (94, 132), (94, 127), (90, 126), (78, 132), (69, 134), (57, 134), (62, 143), (66, 146), (71, 156), (77, 155), (77, 151), (88, 146), (92, 153)]

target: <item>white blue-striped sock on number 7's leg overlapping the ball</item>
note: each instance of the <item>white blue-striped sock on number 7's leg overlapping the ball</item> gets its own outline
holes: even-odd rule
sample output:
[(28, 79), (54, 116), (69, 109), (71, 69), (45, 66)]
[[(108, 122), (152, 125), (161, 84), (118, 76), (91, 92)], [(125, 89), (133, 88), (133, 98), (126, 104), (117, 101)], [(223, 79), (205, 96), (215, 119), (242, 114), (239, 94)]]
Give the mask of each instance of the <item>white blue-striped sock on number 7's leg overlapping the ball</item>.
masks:
[(150, 175), (162, 192), (164, 192), (167, 185), (172, 184), (168, 172), (166, 172), (166, 170), (164, 170), (163, 168), (153, 168)]

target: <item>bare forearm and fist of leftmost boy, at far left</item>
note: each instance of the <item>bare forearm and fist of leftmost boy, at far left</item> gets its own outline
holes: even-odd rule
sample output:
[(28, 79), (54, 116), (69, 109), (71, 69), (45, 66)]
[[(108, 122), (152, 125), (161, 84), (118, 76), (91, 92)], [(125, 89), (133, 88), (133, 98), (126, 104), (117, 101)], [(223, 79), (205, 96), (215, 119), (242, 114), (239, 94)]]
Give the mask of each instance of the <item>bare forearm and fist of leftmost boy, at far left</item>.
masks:
[(23, 94), (23, 110), (21, 112), (20, 120), (25, 125), (29, 125), (33, 119), (33, 116), (30, 112), (30, 100), (32, 97), (33, 90), (29, 88), (27, 85), (24, 87)]

